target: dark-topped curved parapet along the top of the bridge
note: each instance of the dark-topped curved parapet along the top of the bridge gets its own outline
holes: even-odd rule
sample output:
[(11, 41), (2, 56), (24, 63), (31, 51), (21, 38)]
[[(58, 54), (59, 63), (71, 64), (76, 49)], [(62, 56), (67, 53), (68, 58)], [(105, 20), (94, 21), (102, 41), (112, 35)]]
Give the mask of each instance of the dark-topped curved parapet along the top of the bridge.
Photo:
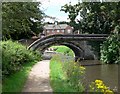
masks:
[(34, 45), (38, 45), (38, 44), (40, 45), (40, 43), (43, 45), (44, 43), (47, 43), (50, 41), (61, 41), (61, 40), (63, 41), (82, 41), (82, 40), (103, 41), (107, 37), (108, 37), (107, 34), (51, 35), (51, 36), (46, 36), (36, 40), (28, 47), (28, 49), (30, 49)]

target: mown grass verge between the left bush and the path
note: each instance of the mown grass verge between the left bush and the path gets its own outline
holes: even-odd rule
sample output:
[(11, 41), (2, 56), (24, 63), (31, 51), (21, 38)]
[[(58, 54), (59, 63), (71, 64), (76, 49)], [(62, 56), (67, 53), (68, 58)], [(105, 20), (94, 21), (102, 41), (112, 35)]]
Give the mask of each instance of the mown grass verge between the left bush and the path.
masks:
[(35, 63), (36, 61), (25, 63), (23, 64), (23, 68), (20, 71), (3, 79), (3, 86), (2, 86), (3, 94), (10, 92), (14, 92), (14, 94), (20, 93), (28, 78), (29, 72)]

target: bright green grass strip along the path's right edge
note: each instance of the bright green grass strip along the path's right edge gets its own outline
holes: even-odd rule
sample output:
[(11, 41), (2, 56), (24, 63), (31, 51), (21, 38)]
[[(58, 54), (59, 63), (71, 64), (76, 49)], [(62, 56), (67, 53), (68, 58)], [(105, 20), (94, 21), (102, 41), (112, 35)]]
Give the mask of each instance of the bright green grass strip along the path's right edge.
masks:
[(50, 61), (50, 84), (53, 92), (75, 92), (68, 84), (61, 64), (54, 59)]

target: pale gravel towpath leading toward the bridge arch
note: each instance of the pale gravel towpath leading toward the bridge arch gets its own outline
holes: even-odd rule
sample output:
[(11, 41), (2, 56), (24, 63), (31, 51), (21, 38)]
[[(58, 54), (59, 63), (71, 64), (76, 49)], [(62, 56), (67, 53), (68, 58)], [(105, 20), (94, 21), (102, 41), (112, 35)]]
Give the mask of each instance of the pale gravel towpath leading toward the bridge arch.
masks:
[(23, 92), (52, 92), (49, 82), (50, 60), (38, 62), (32, 68)]

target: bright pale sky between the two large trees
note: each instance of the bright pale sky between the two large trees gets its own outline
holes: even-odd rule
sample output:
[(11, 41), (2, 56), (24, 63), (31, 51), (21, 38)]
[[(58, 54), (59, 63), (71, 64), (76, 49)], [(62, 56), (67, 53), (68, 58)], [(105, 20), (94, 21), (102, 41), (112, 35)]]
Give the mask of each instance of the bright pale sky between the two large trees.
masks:
[[(41, 10), (48, 16), (56, 17), (57, 21), (69, 21), (67, 13), (64, 11), (60, 11), (61, 6), (65, 4), (69, 4), (71, 2), (72, 5), (76, 4), (78, 0), (37, 0), (42, 3)], [(49, 18), (45, 19), (45, 22), (54, 22)]]

